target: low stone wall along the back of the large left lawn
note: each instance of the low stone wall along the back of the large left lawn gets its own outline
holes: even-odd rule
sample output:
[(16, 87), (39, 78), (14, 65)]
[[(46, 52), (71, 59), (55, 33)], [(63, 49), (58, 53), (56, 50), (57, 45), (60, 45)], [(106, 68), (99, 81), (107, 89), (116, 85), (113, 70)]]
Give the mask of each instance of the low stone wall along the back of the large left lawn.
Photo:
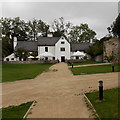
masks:
[(3, 61), (3, 64), (39, 64), (39, 63), (57, 63), (57, 60), (36, 60), (36, 61)]

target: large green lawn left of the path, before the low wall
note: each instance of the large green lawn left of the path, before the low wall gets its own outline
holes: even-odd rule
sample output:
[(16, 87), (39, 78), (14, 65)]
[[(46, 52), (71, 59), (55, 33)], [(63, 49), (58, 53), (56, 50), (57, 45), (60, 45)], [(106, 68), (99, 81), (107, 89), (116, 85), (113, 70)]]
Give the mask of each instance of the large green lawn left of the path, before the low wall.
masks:
[(3, 64), (2, 82), (35, 78), (53, 64)]

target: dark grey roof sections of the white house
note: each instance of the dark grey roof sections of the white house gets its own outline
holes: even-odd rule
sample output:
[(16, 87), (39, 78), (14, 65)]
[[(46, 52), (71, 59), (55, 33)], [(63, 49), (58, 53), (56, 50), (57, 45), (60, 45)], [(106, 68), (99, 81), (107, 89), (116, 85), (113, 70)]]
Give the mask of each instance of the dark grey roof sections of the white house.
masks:
[[(38, 41), (18, 41), (15, 51), (24, 48), (28, 51), (38, 51), (38, 46), (54, 46), (60, 37), (39, 37)], [(85, 51), (91, 43), (70, 43), (71, 51)]]

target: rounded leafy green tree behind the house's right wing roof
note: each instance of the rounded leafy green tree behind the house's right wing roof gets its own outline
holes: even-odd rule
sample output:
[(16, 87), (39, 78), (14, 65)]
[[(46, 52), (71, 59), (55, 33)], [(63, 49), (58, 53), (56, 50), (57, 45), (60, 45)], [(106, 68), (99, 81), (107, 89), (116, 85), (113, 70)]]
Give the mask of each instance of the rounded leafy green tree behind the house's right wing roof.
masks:
[(88, 27), (88, 24), (73, 26), (69, 32), (72, 42), (90, 42), (96, 40), (96, 33)]

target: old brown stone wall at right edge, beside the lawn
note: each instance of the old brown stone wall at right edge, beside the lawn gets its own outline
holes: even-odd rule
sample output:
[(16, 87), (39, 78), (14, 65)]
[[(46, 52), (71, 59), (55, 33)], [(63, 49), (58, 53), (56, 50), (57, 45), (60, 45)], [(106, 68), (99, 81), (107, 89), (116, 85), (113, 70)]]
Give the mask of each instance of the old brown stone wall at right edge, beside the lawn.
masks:
[[(114, 63), (120, 63), (120, 38), (111, 38), (104, 41), (104, 59), (105, 56), (114, 56)], [(106, 61), (106, 60), (104, 60)]]

